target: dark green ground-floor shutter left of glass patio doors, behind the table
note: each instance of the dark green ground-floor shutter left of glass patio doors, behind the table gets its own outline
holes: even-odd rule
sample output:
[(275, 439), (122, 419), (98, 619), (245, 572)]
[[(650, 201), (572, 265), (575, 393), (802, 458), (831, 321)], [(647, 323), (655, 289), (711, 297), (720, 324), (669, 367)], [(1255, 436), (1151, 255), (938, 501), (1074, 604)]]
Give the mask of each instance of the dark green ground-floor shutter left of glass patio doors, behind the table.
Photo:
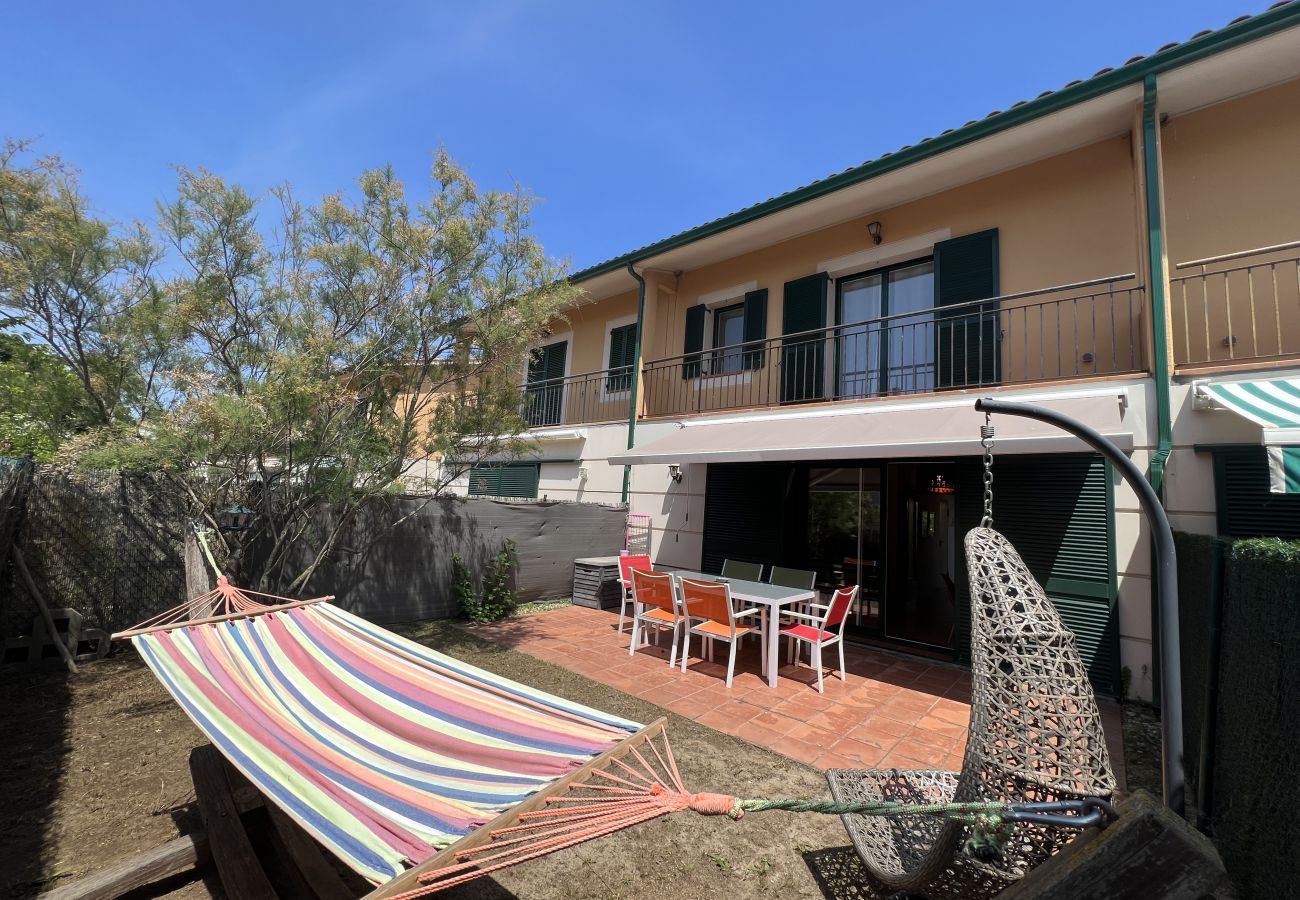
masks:
[(712, 463), (705, 484), (701, 568), (722, 572), (724, 559), (783, 562), (785, 463)]

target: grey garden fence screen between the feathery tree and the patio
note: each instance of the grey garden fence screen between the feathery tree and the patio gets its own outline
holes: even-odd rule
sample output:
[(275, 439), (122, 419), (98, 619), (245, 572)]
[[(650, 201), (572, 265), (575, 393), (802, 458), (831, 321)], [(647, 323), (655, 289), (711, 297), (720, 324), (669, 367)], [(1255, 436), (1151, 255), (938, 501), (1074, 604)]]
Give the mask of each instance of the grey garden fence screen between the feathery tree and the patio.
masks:
[(568, 597), (573, 559), (616, 554), (625, 515), (623, 507), (594, 503), (396, 499), (363, 515), (303, 593), (335, 594), (341, 606), (381, 624), (452, 616), (451, 557), (459, 554), (477, 577), (510, 538), (521, 600)]

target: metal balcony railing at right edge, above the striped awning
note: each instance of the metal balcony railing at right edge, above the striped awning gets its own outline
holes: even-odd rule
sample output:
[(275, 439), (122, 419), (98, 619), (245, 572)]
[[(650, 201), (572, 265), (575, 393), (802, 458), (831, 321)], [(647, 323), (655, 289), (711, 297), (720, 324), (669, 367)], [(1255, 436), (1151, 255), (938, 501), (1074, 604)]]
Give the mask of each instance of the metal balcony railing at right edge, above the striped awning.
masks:
[(1300, 356), (1300, 241), (1193, 259), (1170, 278), (1174, 363)]

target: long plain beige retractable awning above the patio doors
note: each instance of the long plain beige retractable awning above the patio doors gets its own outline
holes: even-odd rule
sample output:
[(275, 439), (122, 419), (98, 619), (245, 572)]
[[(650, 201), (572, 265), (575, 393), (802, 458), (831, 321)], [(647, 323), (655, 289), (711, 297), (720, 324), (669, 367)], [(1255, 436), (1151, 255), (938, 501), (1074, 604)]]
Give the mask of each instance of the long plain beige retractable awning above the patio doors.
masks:
[[(1050, 404), (1092, 424), (1123, 449), (1134, 446), (1124, 423), (1126, 393), (1102, 390), (1052, 397)], [(1039, 402), (1036, 397), (1027, 401)], [(698, 419), (644, 445), (610, 454), (615, 466), (671, 463), (758, 463), (820, 459), (920, 459), (965, 457), (982, 451), (984, 416), (975, 398), (916, 401), (897, 404), (822, 408)], [(653, 432), (644, 427), (641, 433)], [(1071, 453), (1087, 450), (1070, 434), (1030, 419), (997, 423), (1002, 453)]]

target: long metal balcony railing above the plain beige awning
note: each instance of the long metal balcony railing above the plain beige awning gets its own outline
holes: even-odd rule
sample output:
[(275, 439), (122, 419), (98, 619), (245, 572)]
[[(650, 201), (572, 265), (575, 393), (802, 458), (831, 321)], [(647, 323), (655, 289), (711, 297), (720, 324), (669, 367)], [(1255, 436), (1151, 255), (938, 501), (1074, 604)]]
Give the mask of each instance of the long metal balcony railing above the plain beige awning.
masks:
[(1134, 274), (902, 312), (646, 363), (646, 415), (1140, 372)]

